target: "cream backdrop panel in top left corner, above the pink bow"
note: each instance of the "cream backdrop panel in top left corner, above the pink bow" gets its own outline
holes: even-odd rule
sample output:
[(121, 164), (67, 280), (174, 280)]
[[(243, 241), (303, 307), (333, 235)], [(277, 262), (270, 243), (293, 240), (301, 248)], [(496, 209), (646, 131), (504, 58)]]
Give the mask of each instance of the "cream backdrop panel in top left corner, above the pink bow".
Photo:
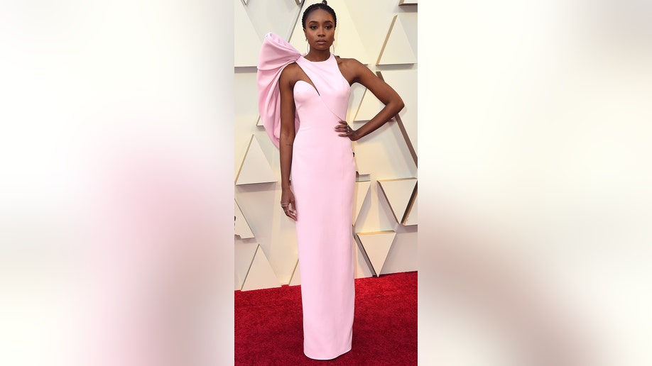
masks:
[(234, 67), (256, 67), (263, 41), (256, 33), (256, 28), (244, 10), (242, 1), (234, 0), (234, 2), (233, 26), (236, 41), (233, 45), (233, 65)]

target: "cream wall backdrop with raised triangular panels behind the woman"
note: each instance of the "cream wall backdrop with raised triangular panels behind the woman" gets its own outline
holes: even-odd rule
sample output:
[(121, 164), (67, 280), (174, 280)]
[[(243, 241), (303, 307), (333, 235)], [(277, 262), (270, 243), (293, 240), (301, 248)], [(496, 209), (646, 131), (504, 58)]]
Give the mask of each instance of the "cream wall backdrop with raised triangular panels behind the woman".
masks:
[[(278, 206), (278, 150), (259, 125), (256, 65), (273, 32), (305, 52), (303, 9), (316, 0), (233, 0), (235, 72), (235, 289), (300, 284), (294, 223)], [(335, 55), (352, 57), (391, 85), (406, 106), (353, 143), (357, 184), (352, 222), (355, 277), (417, 270), (417, 1), (330, 0), (337, 14)], [(352, 87), (355, 128), (382, 104)]]

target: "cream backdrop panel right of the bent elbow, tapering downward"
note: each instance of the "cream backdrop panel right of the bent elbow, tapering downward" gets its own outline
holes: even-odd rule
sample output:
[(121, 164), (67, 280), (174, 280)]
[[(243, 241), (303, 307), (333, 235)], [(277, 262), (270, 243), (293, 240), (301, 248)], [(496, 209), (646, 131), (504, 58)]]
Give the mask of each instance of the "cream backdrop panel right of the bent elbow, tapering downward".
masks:
[(401, 128), (403, 138), (412, 155), (415, 164), (417, 163), (417, 70), (385, 70), (378, 72), (379, 77), (396, 90), (406, 106), (398, 115), (396, 121)]

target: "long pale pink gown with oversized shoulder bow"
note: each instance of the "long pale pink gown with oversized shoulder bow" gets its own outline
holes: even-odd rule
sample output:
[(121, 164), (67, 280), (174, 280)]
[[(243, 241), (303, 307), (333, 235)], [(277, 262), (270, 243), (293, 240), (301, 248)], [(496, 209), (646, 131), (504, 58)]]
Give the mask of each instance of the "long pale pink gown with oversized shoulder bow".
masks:
[(351, 350), (354, 313), (352, 243), (355, 164), (351, 141), (335, 131), (345, 120), (351, 88), (337, 60), (311, 62), (278, 35), (261, 48), (257, 82), (263, 126), (278, 148), (278, 79), (296, 62), (315, 85), (295, 83), (291, 182), (303, 302), (303, 352), (330, 360)]

